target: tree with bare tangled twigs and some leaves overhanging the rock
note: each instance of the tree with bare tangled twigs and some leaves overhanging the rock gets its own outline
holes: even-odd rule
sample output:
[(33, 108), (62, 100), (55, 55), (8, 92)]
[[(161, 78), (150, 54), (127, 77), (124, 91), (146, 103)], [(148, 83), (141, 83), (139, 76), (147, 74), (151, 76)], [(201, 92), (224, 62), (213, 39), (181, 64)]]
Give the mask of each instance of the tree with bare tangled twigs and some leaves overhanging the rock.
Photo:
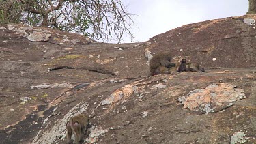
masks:
[(119, 42), (124, 33), (133, 38), (130, 15), (119, 0), (0, 0), (0, 23), (50, 27), (98, 40), (114, 35)]

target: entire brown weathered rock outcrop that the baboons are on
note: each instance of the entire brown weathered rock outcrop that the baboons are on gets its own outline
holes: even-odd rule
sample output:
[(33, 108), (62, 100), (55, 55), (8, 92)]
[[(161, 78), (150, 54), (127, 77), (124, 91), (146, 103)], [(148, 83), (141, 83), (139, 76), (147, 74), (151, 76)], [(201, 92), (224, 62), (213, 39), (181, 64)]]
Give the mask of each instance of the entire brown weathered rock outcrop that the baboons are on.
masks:
[[(255, 19), (184, 25), (137, 44), (0, 25), (0, 143), (66, 143), (78, 113), (91, 117), (83, 143), (256, 143)], [(162, 51), (206, 72), (148, 76)]]

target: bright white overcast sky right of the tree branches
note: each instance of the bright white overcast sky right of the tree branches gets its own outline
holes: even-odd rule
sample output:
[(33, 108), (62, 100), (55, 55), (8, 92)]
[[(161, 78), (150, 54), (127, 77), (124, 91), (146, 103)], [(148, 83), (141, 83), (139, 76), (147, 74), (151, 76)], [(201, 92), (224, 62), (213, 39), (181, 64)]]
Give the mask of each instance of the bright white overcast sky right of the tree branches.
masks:
[[(248, 0), (122, 0), (136, 14), (132, 32), (139, 42), (176, 27), (205, 20), (242, 16)], [(130, 42), (125, 38), (125, 42)]]

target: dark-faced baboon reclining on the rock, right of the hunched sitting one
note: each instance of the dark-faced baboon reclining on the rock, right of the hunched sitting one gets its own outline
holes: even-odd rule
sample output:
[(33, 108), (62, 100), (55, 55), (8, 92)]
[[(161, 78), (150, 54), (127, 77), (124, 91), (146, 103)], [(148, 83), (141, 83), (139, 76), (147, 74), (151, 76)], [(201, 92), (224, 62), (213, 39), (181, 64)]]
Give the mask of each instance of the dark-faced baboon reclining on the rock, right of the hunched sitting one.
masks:
[(186, 63), (186, 59), (182, 59), (182, 61), (180, 61), (180, 66), (177, 72), (205, 72), (205, 70), (199, 63)]

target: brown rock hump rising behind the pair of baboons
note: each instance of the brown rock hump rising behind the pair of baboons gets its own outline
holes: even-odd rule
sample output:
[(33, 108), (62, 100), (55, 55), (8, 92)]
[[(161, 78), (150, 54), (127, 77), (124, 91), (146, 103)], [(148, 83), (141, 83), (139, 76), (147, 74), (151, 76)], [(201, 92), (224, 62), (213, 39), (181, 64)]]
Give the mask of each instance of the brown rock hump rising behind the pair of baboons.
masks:
[(206, 67), (255, 67), (255, 27), (255, 15), (184, 25), (151, 38), (150, 51), (165, 49)]

